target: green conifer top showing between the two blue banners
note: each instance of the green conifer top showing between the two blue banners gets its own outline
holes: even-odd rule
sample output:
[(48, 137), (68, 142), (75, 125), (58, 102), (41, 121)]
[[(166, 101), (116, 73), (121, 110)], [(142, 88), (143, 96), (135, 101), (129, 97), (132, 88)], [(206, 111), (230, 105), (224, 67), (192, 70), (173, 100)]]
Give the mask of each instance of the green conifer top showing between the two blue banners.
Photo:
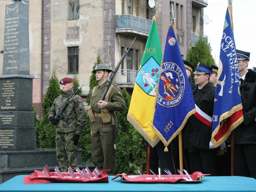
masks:
[(215, 61), (211, 55), (211, 45), (208, 42), (208, 37), (200, 35), (198, 41), (195, 43), (195, 47), (187, 50), (186, 60), (190, 62), (195, 68), (198, 62), (202, 62), (206, 65), (214, 65)]

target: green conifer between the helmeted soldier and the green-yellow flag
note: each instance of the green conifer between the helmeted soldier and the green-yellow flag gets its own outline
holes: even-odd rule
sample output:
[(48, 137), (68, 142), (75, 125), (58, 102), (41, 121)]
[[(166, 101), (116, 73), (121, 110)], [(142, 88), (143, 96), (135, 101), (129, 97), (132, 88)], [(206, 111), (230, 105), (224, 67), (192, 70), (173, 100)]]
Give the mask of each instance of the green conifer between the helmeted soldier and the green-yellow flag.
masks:
[(117, 137), (116, 137), (116, 174), (125, 172), (137, 174), (137, 170), (146, 170), (146, 148), (145, 140), (127, 120), (130, 106), (130, 96), (126, 88), (122, 89), (126, 109), (116, 112), (117, 115)]

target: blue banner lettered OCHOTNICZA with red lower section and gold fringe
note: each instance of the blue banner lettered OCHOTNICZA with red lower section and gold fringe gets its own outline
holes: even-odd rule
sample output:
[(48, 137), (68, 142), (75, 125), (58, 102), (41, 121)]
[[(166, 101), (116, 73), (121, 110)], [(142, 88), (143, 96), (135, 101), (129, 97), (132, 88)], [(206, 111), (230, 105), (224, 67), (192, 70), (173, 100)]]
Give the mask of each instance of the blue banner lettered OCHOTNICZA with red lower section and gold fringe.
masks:
[(221, 39), (218, 80), (212, 116), (212, 144), (221, 145), (243, 121), (239, 89), (239, 67), (233, 35), (232, 10), (229, 5)]

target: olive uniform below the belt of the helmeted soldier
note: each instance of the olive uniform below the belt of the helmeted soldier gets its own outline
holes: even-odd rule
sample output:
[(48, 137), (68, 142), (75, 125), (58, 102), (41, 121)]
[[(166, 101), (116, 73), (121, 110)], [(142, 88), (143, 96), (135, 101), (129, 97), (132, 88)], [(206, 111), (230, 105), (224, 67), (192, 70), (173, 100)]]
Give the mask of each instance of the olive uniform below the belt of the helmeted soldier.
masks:
[(116, 151), (113, 144), (113, 128), (111, 123), (102, 123), (95, 118), (92, 124), (92, 161), (102, 171), (111, 169), (108, 175), (115, 175)]

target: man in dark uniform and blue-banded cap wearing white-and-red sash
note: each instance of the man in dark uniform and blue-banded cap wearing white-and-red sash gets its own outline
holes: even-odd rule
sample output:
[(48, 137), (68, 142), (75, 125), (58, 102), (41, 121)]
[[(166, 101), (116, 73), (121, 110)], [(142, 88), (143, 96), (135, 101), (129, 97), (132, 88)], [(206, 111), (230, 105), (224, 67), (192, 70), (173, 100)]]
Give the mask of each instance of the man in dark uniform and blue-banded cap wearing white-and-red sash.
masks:
[[(199, 63), (194, 72), (197, 87), (192, 90), (195, 104), (203, 116), (212, 117), (215, 88), (209, 82), (212, 67)], [(197, 111), (199, 113), (199, 111)], [(210, 149), (212, 129), (194, 115), (188, 119), (183, 130), (183, 147), (189, 152), (191, 172), (216, 175), (216, 149)]]

